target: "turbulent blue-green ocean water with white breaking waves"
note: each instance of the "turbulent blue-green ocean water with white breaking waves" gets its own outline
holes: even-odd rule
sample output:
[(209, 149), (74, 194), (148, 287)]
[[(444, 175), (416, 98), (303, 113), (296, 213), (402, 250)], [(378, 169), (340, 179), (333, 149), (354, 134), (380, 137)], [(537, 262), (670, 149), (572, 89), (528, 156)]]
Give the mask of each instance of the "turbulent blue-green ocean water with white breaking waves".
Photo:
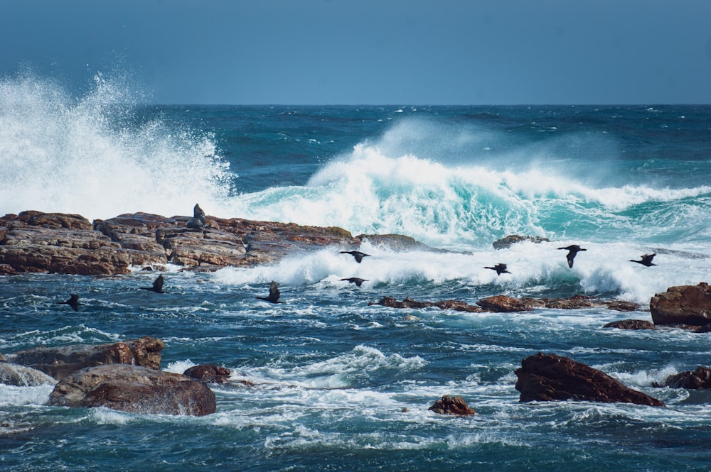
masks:
[[(710, 365), (707, 334), (603, 329), (711, 279), (711, 106), (152, 106), (102, 77), (83, 97), (0, 81), (0, 214), (189, 215), (405, 234), (274, 266), (153, 276), (0, 277), (0, 352), (156, 336), (163, 368), (234, 371), (207, 417), (47, 405), (0, 385), (0, 468), (49, 471), (708, 471), (711, 395), (654, 388)], [(493, 250), (508, 234), (545, 236)], [(587, 248), (568, 268), (557, 247)], [(658, 266), (629, 262), (656, 252)], [(508, 263), (510, 275), (483, 268)], [(341, 278), (368, 279), (358, 288)], [(265, 295), (277, 280), (284, 304)], [(56, 302), (85, 302), (73, 312)], [(638, 312), (469, 314), (369, 306), (596, 295)], [(668, 408), (518, 402), (539, 351), (599, 368)], [(246, 387), (240, 380), (249, 380)], [(461, 395), (477, 415), (427, 408)]]

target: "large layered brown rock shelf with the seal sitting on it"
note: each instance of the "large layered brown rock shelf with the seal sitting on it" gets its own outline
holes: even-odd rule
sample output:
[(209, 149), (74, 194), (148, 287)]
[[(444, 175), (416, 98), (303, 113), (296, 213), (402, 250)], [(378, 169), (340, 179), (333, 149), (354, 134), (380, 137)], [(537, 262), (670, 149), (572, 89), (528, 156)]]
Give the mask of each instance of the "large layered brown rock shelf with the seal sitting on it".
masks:
[(90, 224), (80, 215), (8, 214), (0, 218), (0, 274), (115, 275), (169, 262), (214, 270), (276, 263), (296, 251), (360, 245), (336, 227), (207, 216), (205, 226), (190, 228), (189, 220), (135, 213)]

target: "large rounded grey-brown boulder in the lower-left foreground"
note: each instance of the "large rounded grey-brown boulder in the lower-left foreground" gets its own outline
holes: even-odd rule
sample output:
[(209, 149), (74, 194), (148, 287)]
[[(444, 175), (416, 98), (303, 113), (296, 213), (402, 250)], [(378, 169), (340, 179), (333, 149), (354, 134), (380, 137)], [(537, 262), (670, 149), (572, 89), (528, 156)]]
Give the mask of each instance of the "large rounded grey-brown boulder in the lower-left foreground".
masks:
[(84, 368), (60, 380), (50, 405), (107, 407), (141, 415), (210, 415), (215, 393), (186, 375), (114, 364)]

